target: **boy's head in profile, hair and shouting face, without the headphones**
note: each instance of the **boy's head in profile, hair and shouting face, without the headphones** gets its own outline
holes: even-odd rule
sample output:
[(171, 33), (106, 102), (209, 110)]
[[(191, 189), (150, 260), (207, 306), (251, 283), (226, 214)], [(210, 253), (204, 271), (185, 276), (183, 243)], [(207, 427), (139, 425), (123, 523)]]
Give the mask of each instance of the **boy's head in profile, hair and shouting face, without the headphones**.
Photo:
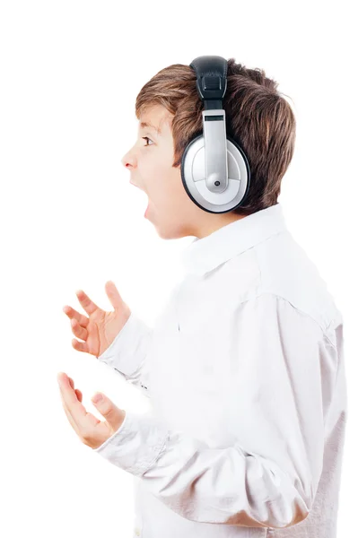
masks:
[(146, 217), (162, 239), (202, 238), (277, 203), (281, 179), (293, 158), (296, 124), (276, 86), (263, 70), (228, 60), (226, 133), (246, 153), (250, 187), (236, 210), (208, 213), (190, 199), (180, 174), (186, 145), (203, 133), (204, 103), (196, 90), (195, 71), (189, 65), (170, 65), (144, 85), (135, 101), (138, 136), (122, 162), (130, 170), (131, 183), (148, 196)]

